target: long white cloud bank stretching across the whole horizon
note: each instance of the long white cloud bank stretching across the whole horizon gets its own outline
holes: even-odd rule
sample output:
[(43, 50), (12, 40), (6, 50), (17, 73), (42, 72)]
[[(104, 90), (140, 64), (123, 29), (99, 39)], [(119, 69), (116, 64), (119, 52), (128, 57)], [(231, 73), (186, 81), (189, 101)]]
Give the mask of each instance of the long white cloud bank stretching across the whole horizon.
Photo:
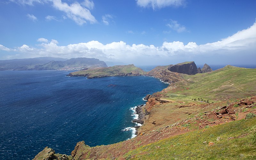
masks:
[(124, 62), (136, 65), (168, 65), (184, 61), (207, 62), (215, 64), (255, 64), (256, 22), (247, 29), (213, 43), (197, 45), (195, 42), (184, 44), (180, 41), (163, 42), (162, 46), (132, 44), (124, 41), (102, 44), (99, 41), (59, 46), (57, 40), (37, 39), (36, 47), (26, 44), (8, 48), (0, 44), (1, 52), (12, 55), (1, 59), (33, 58), (42, 56), (61, 58), (98, 58), (102, 61)]

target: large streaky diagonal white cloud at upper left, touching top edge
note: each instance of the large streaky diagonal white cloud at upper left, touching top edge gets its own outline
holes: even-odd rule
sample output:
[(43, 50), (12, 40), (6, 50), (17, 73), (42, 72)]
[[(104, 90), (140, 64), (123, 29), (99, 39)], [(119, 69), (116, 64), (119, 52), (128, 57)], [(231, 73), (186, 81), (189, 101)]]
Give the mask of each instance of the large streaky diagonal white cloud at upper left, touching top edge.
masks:
[(90, 23), (96, 23), (97, 20), (92, 16), (91, 12), (82, 7), (81, 4), (75, 2), (73, 4), (68, 5), (61, 0), (52, 0), (53, 6), (60, 10), (64, 11), (68, 18), (74, 20), (78, 25), (83, 25), (86, 21)]

